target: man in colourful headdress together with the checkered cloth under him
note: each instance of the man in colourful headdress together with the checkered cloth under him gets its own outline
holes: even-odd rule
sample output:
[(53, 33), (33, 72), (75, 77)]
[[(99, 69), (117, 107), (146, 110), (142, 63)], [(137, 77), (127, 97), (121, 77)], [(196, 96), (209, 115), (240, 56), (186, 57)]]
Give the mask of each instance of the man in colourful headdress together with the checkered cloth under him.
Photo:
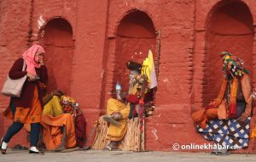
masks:
[(224, 81), (218, 98), (213, 99), (206, 108), (193, 113), (192, 119), (208, 140), (226, 146), (247, 147), (248, 117), (251, 116), (253, 99), (248, 71), (244, 68), (244, 62), (231, 53), (223, 52), (220, 56)]

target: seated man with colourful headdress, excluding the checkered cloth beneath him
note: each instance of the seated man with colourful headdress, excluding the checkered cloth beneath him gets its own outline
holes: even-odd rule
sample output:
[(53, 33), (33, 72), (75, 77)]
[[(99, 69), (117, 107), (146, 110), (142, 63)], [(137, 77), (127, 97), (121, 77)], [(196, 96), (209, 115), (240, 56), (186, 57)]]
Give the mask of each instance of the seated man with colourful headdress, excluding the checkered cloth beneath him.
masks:
[(252, 88), (244, 62), (228, 52), (220, 56), (225, 77), (218, 98), (205, 109), (192, 114), (192, 119), (203, 129), (208, 120), (236, 119), (245, 122), (252, 112)]

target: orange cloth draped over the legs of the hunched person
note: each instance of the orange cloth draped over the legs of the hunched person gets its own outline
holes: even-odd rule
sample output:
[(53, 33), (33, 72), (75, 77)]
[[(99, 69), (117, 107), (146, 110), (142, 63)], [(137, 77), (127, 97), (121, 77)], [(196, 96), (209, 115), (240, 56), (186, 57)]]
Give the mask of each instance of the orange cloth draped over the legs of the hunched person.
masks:
[(75, 126), (73, 116), (62, 114), (56, 117), (51, 115), (42, 115), (41, 125), (44, 128), (43, 141), (45, 147), (49, 150), (55, 150), (61, 144), (61, 126), (66, 126), (67, 141), (66, 148), (76, 147)]

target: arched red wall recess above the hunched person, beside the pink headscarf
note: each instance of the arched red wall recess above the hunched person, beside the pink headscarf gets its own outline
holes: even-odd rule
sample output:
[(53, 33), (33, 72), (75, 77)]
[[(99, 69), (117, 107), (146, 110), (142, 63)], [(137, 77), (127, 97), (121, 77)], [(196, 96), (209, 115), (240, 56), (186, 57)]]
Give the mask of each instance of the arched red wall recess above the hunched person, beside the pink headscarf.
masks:
[(67, 20), (55, 18), (44, 26), (41, 36), (49, 73), (48, 91), (58, 88), (69, 93), (74, 51), (72, 26)]

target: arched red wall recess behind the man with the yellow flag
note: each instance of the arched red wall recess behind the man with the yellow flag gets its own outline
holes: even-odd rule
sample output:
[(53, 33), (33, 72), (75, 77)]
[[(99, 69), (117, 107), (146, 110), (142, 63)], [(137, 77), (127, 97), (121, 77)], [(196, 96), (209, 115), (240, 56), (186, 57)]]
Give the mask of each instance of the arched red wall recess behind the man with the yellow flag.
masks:
[(142, 63), (148, 56), (148, 50), (155, 51), (156, 34), (154, 23), (148, 14), (133, 10), (120, 21), (116, 31), (115, 65), (113, 81), (119, 81), (127, 91), (129, 71), (126, 63), (129, 60)]

